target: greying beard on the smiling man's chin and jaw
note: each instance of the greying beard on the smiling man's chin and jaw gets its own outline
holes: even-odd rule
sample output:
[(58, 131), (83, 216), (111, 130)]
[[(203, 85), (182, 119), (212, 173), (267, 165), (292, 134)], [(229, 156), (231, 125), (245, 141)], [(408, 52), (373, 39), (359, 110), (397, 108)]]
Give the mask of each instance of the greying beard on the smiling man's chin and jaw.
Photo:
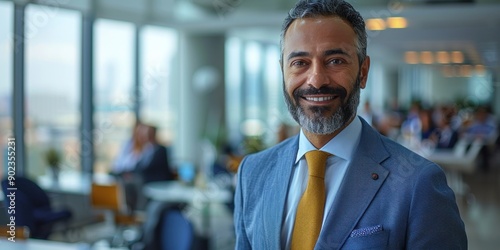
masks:
[(287, 94), (284, 83), (283, 92), (285, 94), (285, 102), (287, 104), (288, 111), (292, 115), (293, 119), (299, 123), (302, 129), (313, 134), (333, 134), (335, 131), (344, 127), (347, 122), (349, 122), (356, 115), (361, 94), (360, 78), (358, 76), (356, 79), (353, 92), (348, 96), (345, 104), (342, 104), (339, 109), (329, 117), (322, 115), (323, 111), (330, 109), (329, 107), (313, 107), (311, 108), (311, 111), (313, 111), (313, 117), (308, 117), (304, 108), (299, 104), (300, 97), (295, 95), (295, 92), (293, 93), (295, 103), (297, 103), (297, 105), (295, 105), (291, 97)]

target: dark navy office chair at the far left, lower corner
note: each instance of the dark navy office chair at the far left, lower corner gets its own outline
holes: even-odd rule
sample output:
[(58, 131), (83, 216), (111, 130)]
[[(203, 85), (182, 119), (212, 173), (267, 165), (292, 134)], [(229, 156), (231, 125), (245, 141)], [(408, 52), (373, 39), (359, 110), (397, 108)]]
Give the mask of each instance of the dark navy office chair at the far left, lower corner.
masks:
[(16, 226), (28, 227), (31, 238), (47, 239), (56, 223), (67, 223), (72, 217), (69, 209), (53, 209), (47, 193), (30, 179), (16, 176), (13, 183), (11, 186), (8, 180), (2, 180), (4, 203), (8, 207), (9, 194), (15, 192)]

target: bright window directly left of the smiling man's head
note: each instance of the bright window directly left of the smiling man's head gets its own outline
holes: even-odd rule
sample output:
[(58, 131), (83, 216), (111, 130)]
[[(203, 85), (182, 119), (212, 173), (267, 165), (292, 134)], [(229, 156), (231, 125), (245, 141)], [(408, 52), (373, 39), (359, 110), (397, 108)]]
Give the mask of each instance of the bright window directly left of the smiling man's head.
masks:
[(273, 144), (281, 123), (293, 123), (283, 99), (279, 45), (230, 37), (226, 41), (226, 103), (229, 137), (239, 144), (261, 136)]

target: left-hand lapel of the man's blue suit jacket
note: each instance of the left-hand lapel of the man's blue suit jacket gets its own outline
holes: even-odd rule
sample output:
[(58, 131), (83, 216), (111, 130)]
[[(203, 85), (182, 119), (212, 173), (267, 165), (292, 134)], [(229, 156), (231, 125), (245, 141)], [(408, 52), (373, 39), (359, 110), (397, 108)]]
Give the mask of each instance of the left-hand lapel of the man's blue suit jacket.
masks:
[(284, 147), (283, 155), (274, 155), (270, 161), (272, 171), (264, 187), (263, 199), (263, 229), (266, 231), (266, 246), (262, 249), (281, 249), (281, 226), (285, 202), (288, 195), (288, 186), (292, 175), (295, 158), (298, 150), (298, 136), (289, 140)]

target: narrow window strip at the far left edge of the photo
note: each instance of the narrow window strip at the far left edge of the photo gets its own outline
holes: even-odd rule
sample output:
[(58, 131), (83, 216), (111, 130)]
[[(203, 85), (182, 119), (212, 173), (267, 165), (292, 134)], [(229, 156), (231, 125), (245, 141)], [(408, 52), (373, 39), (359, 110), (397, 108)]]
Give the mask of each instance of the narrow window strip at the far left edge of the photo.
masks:
[(12, 3), (0, 2), (0, 178), (7, 170), (7, 140), (12, 137)]

